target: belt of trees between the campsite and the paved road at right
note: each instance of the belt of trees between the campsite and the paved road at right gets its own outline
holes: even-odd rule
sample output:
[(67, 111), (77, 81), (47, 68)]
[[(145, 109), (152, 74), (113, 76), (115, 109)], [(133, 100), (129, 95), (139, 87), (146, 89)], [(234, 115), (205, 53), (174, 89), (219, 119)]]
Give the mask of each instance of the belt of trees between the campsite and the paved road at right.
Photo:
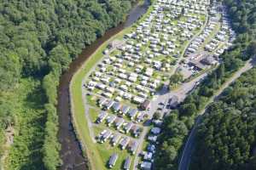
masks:
[[(221, 87), (232, 73), (244, 65), (247, 59), (256, 55), (255, 26), (256, 20), (251, 20), (256, 14), (256, 3), (253, 1), (230, 1), (223, 2), (231, 14), (230, 20), (237, 33), (234, 45), (221, 55), (222, 62), (218, 68), (208, 74), (201, 85), (189, 94), (176, 111), (171, 112), (164, 120), (163, 133), (160, 136), (157, 156), (154, 167), (157, 169), (177, 169), (183, 144), (195, 122), (195, 117), (202, 111), (212, 95)], [(250, 6), (247, 8), (247, 6)], [(236, 11), (232, 8), (237, 7)], [(245, 7), (245, 8), (238, 8)], [(235, 15), (235, 13), (237, 13)], [(234, 17), (234, 16), (240, 17)], [(241, 23), (241, 26), (236, 26)], [(174, 120), (170, 120), (174, 119)], [(177, 127), (187, 129), (187, 133), (177, 132)], [(175, 132), (175, 133), (170, 133)], [(183, 131), (185, 132), (185, 131)], [(174, 143), (175, 141), (175, 143)], [(166, 147), (169, 145), (169, 149)], [(170, 147), (172, 146), (172, 147)], [(172, 150), (171, 150), (172, 149)]]

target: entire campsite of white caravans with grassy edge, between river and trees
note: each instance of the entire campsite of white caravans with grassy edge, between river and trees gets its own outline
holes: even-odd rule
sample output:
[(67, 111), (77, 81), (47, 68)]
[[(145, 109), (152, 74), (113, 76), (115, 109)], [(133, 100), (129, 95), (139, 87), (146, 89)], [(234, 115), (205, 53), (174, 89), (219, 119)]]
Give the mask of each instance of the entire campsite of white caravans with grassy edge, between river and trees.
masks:
[[(84, 63), (71, 97), (91, 167), (152, 168), (163, 116), (218, 65), (236, 37), (220, 8), (207, 0), (155, 0), (136, 25)], [(173, 84), (182, 88), (172, 90)]]

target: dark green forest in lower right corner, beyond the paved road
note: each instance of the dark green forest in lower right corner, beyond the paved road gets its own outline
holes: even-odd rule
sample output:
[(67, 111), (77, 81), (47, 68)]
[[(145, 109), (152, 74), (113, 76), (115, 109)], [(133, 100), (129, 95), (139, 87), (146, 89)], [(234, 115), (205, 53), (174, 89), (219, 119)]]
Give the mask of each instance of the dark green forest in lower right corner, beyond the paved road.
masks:
[(256, 169), (256, 69), (244, 73), (207, 109), (190, 169)]

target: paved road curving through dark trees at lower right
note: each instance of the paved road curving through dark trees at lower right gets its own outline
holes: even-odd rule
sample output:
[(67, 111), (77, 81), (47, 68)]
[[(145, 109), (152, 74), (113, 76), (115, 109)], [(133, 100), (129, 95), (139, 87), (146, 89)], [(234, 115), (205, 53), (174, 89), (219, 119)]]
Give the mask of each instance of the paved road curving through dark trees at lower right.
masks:
[(212, 98), (209, 99), (209, 101), (207, 102), (206, 108), (200, 112), (200, 115), (197, 117), (195, 121), (195, 126), (193, 127), (193, 129), (189, 134), (189, 139), (185, 144), (185, 148), (183, 150), (183, 156), (179, 162), (178, 170), (189, 170), (189, 163), (190, 163), (191, 155), (193, 153), (194, 146), (195, 146), (196, 127), (198, 126), (199, 122), (201, 122), (201, 117), (202, 117), (201, 115), (203, 115), (206, 112), (207, 106), (210, 103), (212, 103), (214, 100), (218, 99), (220, 94), (224, 91), (224, 88), (227, 88), (228, 86), (230, 86), (230, 84), (234, 82), (238, 77), (240, 77), (242, 73), (252, 69), (254, 65), (256, 65), (256, 58), (248, 60), (246, 64), (243, 67), (241, 67), (239, 71), (236, 71), (236, 73), (232, 77), (230, 77), (230, 79), (227, 82), (224, 82), (224, 84), (222, 85), (221, 88), (218, 89), (216, 94), (214, 94)]

